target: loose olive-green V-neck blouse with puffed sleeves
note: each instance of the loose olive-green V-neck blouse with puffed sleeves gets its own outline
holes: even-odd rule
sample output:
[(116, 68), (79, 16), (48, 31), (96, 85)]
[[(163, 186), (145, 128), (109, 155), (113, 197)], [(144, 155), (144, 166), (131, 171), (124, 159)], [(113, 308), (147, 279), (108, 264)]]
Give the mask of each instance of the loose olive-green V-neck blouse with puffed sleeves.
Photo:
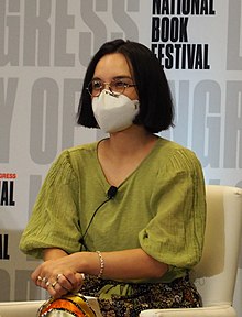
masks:
[[(79, 240), (110, 188), (97, 146), (95, 142), (65, 150), (52, 165), (21, 238), (24, 253), (42, 258), (44, 248), (80, 250)], [(152, 282), (170, 282), (199, 262), (205, 221), (199, 161), (190, 150), (158, 138), (117, 195), (97, 211), (85, 243), (89, 251), (142, 248), (169, 265)]]

